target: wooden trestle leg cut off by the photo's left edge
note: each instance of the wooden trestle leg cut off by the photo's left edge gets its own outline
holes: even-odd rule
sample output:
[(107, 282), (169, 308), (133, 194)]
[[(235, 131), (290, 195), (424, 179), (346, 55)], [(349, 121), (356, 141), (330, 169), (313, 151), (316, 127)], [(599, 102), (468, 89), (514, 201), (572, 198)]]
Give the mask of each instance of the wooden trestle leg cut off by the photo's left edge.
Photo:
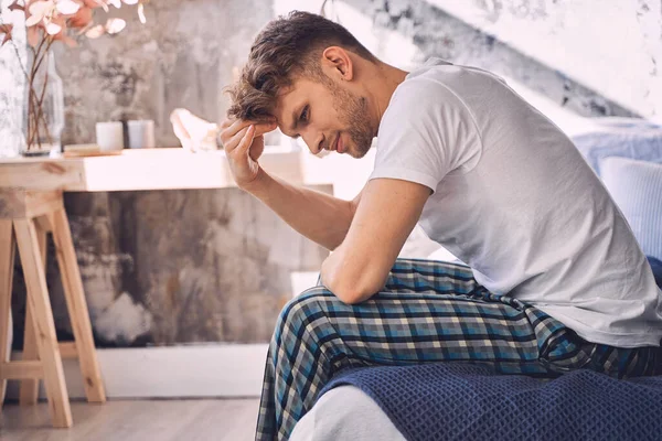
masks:
[[(8, 345), (11, 284), (13, 279), (14, 238), (11, 219), (0, 219), (0, 400), (7, 391), (7, 379), (2, 377), (2, 363), (9, 362), (11, 347)], [(2, 402), (0, 402), (0, 408)]]

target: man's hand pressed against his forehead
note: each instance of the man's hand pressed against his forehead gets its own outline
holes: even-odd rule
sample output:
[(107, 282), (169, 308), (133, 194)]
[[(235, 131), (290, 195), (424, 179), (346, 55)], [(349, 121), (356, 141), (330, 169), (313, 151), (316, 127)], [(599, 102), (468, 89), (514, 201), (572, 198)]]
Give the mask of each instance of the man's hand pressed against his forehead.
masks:
[(276, 127), (276, 122), (241, 119), (228, 119), (221, 125), (220, 139), (229, 162), (229, 170), (239, 187), (249, 185), (257, 178), (257, 160), (265, 150), (264, 135)]

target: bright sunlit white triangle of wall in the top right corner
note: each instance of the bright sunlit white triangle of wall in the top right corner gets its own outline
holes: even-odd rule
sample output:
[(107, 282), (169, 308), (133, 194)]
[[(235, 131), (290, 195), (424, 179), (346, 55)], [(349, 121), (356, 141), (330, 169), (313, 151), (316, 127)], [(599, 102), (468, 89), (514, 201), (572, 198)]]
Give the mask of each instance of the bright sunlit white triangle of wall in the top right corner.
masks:
[(426, 0), (600, 95), (662, 121), (662, 3)]

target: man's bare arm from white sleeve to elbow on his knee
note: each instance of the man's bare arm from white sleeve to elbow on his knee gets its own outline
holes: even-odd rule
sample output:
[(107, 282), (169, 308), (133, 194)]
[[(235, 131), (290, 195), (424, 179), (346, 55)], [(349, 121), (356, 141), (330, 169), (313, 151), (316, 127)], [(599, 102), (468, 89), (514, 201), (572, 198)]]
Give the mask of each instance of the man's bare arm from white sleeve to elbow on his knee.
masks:
[(370, 181), (344, 240), (322, 265), (324, 286), (351, 304), (378, 292), (430, 193), (409, 181)]

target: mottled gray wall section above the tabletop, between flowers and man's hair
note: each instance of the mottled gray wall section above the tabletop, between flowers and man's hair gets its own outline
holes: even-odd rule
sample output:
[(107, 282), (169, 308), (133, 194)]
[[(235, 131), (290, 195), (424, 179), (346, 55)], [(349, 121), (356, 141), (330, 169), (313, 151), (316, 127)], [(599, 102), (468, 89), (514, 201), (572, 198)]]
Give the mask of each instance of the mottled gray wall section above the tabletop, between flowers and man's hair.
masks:
[(66, 78), (63, 142), (94, 141), (96, 121), (153, 119), (157, 144), (179, 146), (169, 115), (186, 107), (210, 120), (227, 108), (232, 83), (258, 30), (271, 18), (270, 0), (159, 0), (116, 15), (127, 28), (116, 36), (58, 47)]

